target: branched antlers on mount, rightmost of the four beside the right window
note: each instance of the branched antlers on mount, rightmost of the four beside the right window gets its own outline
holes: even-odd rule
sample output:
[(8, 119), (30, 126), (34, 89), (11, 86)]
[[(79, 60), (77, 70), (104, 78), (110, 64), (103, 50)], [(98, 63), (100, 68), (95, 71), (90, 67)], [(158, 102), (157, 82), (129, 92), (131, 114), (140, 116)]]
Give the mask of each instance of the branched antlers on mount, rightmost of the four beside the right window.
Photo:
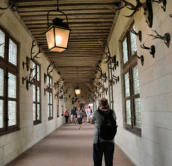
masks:
[(171, 41), (171, 35), (170, 33), (165, 33), (164, 36), (160, 35), (156, 30), (153, 31), (155, 35), (149, 34), (149, 36), (153, 37), (153, 39), (160, 39), (164, 41), (165, 45), (169, 48), (170, 47), (170, 41)]

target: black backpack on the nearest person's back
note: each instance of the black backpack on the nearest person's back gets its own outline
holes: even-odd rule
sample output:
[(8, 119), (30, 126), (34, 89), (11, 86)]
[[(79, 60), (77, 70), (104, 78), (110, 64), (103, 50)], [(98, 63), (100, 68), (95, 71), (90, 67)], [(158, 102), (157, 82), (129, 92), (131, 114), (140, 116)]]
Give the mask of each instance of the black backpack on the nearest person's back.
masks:
[(100, 125), (98, 136), (104, 140), (112, 140), (117, 132), (117, 124), (114, 119), (112, 110), (109, 110), (109, 113), (104, 113), (100, 110), (98, 112), (101, 116), (104, 117), (103, 122)]

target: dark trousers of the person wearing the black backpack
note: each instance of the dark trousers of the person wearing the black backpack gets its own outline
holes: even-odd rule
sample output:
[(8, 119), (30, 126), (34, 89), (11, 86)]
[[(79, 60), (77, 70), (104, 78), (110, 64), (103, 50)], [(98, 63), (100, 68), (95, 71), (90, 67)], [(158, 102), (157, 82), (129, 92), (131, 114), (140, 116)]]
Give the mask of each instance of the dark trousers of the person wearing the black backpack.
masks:
[(105, 166), (113, 166), (114, 143), (102, 142), (93, 144), (94, 166), (102, 166), (102, 157), (104, 154)]

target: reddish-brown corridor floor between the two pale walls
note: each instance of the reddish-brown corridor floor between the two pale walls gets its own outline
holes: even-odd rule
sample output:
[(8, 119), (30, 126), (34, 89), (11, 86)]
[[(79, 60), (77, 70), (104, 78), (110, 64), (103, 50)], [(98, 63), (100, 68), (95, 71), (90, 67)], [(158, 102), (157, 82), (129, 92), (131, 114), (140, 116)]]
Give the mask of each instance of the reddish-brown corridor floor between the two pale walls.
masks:
[[(64, 125), (23, 153), (8, 166), (93, 166), (93, 126)], [(116, 146), (115, 166), (134, 166)], [(104, 162), (103, 162), (104, 166)]]

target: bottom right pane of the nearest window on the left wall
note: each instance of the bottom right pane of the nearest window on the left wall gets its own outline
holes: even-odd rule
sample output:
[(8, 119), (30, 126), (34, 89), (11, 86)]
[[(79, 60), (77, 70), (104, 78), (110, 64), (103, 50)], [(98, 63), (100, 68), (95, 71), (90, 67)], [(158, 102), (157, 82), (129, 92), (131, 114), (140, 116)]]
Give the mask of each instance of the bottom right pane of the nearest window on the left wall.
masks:
[(16, 101), (8, 101), (8, 126), (16, 125)]

